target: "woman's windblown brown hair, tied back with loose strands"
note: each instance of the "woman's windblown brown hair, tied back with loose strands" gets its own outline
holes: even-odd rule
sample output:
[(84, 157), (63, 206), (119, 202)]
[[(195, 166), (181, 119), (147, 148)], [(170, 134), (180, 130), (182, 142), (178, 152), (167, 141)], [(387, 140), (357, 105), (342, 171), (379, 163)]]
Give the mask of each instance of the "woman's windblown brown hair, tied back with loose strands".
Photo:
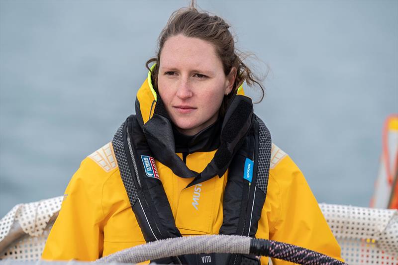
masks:
[[(235, 40), (231, 32), (228, 30), (230, 25), (219, 16), (211, 15), (206, 11), (199, 11), (195, 7), (195, 1), (191, 2), (190, 7), (181, 8), (170, 16), (165, 28), (159, 35), (158, 50), (156, 57), (146, 62), (146, 68), (151, 72), (152, 85), (157, 91), (160, 54), (165, 42), (173, 36), (182, 34), (186, 37), (199, 38), (211, 43), (216, 50), (217, 56), (220, 58), (224, 74), (227, 76), (233, 67), (236, 68), (235, 83), (232, 91), (224, 96), (220, 107), (220, 115), (223, 116), (225, 111), (236, 94), (237, 89), (246, 81), (249, 87), (257, 84), (261, 88), (261, 99), (264, 98), (264, 87), (261, 80), (258, 79), (252, 71), (243, 63), (244, 54), (237, 53), (235, 49)], [(150, 65), (156, 63), (151, 70)]]

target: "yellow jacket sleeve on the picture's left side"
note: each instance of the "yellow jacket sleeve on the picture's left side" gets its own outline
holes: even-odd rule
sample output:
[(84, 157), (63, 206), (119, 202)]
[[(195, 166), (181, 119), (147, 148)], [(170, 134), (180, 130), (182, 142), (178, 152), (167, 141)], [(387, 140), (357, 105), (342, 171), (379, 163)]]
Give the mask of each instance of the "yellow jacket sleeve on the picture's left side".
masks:
[(86, 158), (70, 180), (42, 259), (94, 261), (102, 255), (104, 171)]

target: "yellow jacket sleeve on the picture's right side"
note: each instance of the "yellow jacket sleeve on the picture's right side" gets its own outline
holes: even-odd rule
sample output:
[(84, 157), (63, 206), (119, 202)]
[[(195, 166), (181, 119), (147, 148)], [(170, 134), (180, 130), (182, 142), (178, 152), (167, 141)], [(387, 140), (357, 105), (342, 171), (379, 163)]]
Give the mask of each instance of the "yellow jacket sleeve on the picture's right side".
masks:
[[(340, 261), (334, 238), (304, 176), (289, 156), (270, 170), (269, 189), (278, 189), (279, 209), (270, 223), (271, 240), (285, 242), (328, 255)], [(270, 191), (271, 192), (271, 191)], [(273, 260), (274, 265), (287, 262)]]

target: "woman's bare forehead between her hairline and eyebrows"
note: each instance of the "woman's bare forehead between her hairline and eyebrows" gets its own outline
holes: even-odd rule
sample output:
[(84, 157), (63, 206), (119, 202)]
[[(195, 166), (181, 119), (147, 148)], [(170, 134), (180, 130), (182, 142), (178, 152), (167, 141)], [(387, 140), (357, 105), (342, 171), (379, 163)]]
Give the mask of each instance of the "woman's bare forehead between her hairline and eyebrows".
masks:
[(207, 70), (221, 67), (222, 70), (222, 62), (210, 42), (177, 35), (168, 38), (164, 43), (160, 54), (160, 67)]

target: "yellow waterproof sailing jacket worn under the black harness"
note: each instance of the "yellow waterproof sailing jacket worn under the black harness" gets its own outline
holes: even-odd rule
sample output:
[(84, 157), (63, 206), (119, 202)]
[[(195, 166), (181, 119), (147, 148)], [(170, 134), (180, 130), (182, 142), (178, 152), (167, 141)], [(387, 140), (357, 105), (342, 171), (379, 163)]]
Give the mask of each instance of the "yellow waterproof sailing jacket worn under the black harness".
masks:
[[(149, 119), (156, 93), (148, 80), (137, 97), (142, 117)], [(215, 150), (190, 154), (186, 165), (192, 171), (202, 172), (214, 154)], [(181, 234), (217, 234), (223, 220), (223, 191), (228, 171), (200, 186), (186, 188), (192, 178), (178, 177), (158, 161), (156, 167)], [(341, 260), (340, 247), (305, 178), (291, 158), (274, 144), (267, 197), (256, 238), (298, 245)], [(83, 160), (69, 182), (42, 258), (94, 261), (144, 243), (112, 144), (107, 143)], [(261, 264), (267, 263), (268, 258), (262, 257)]]

